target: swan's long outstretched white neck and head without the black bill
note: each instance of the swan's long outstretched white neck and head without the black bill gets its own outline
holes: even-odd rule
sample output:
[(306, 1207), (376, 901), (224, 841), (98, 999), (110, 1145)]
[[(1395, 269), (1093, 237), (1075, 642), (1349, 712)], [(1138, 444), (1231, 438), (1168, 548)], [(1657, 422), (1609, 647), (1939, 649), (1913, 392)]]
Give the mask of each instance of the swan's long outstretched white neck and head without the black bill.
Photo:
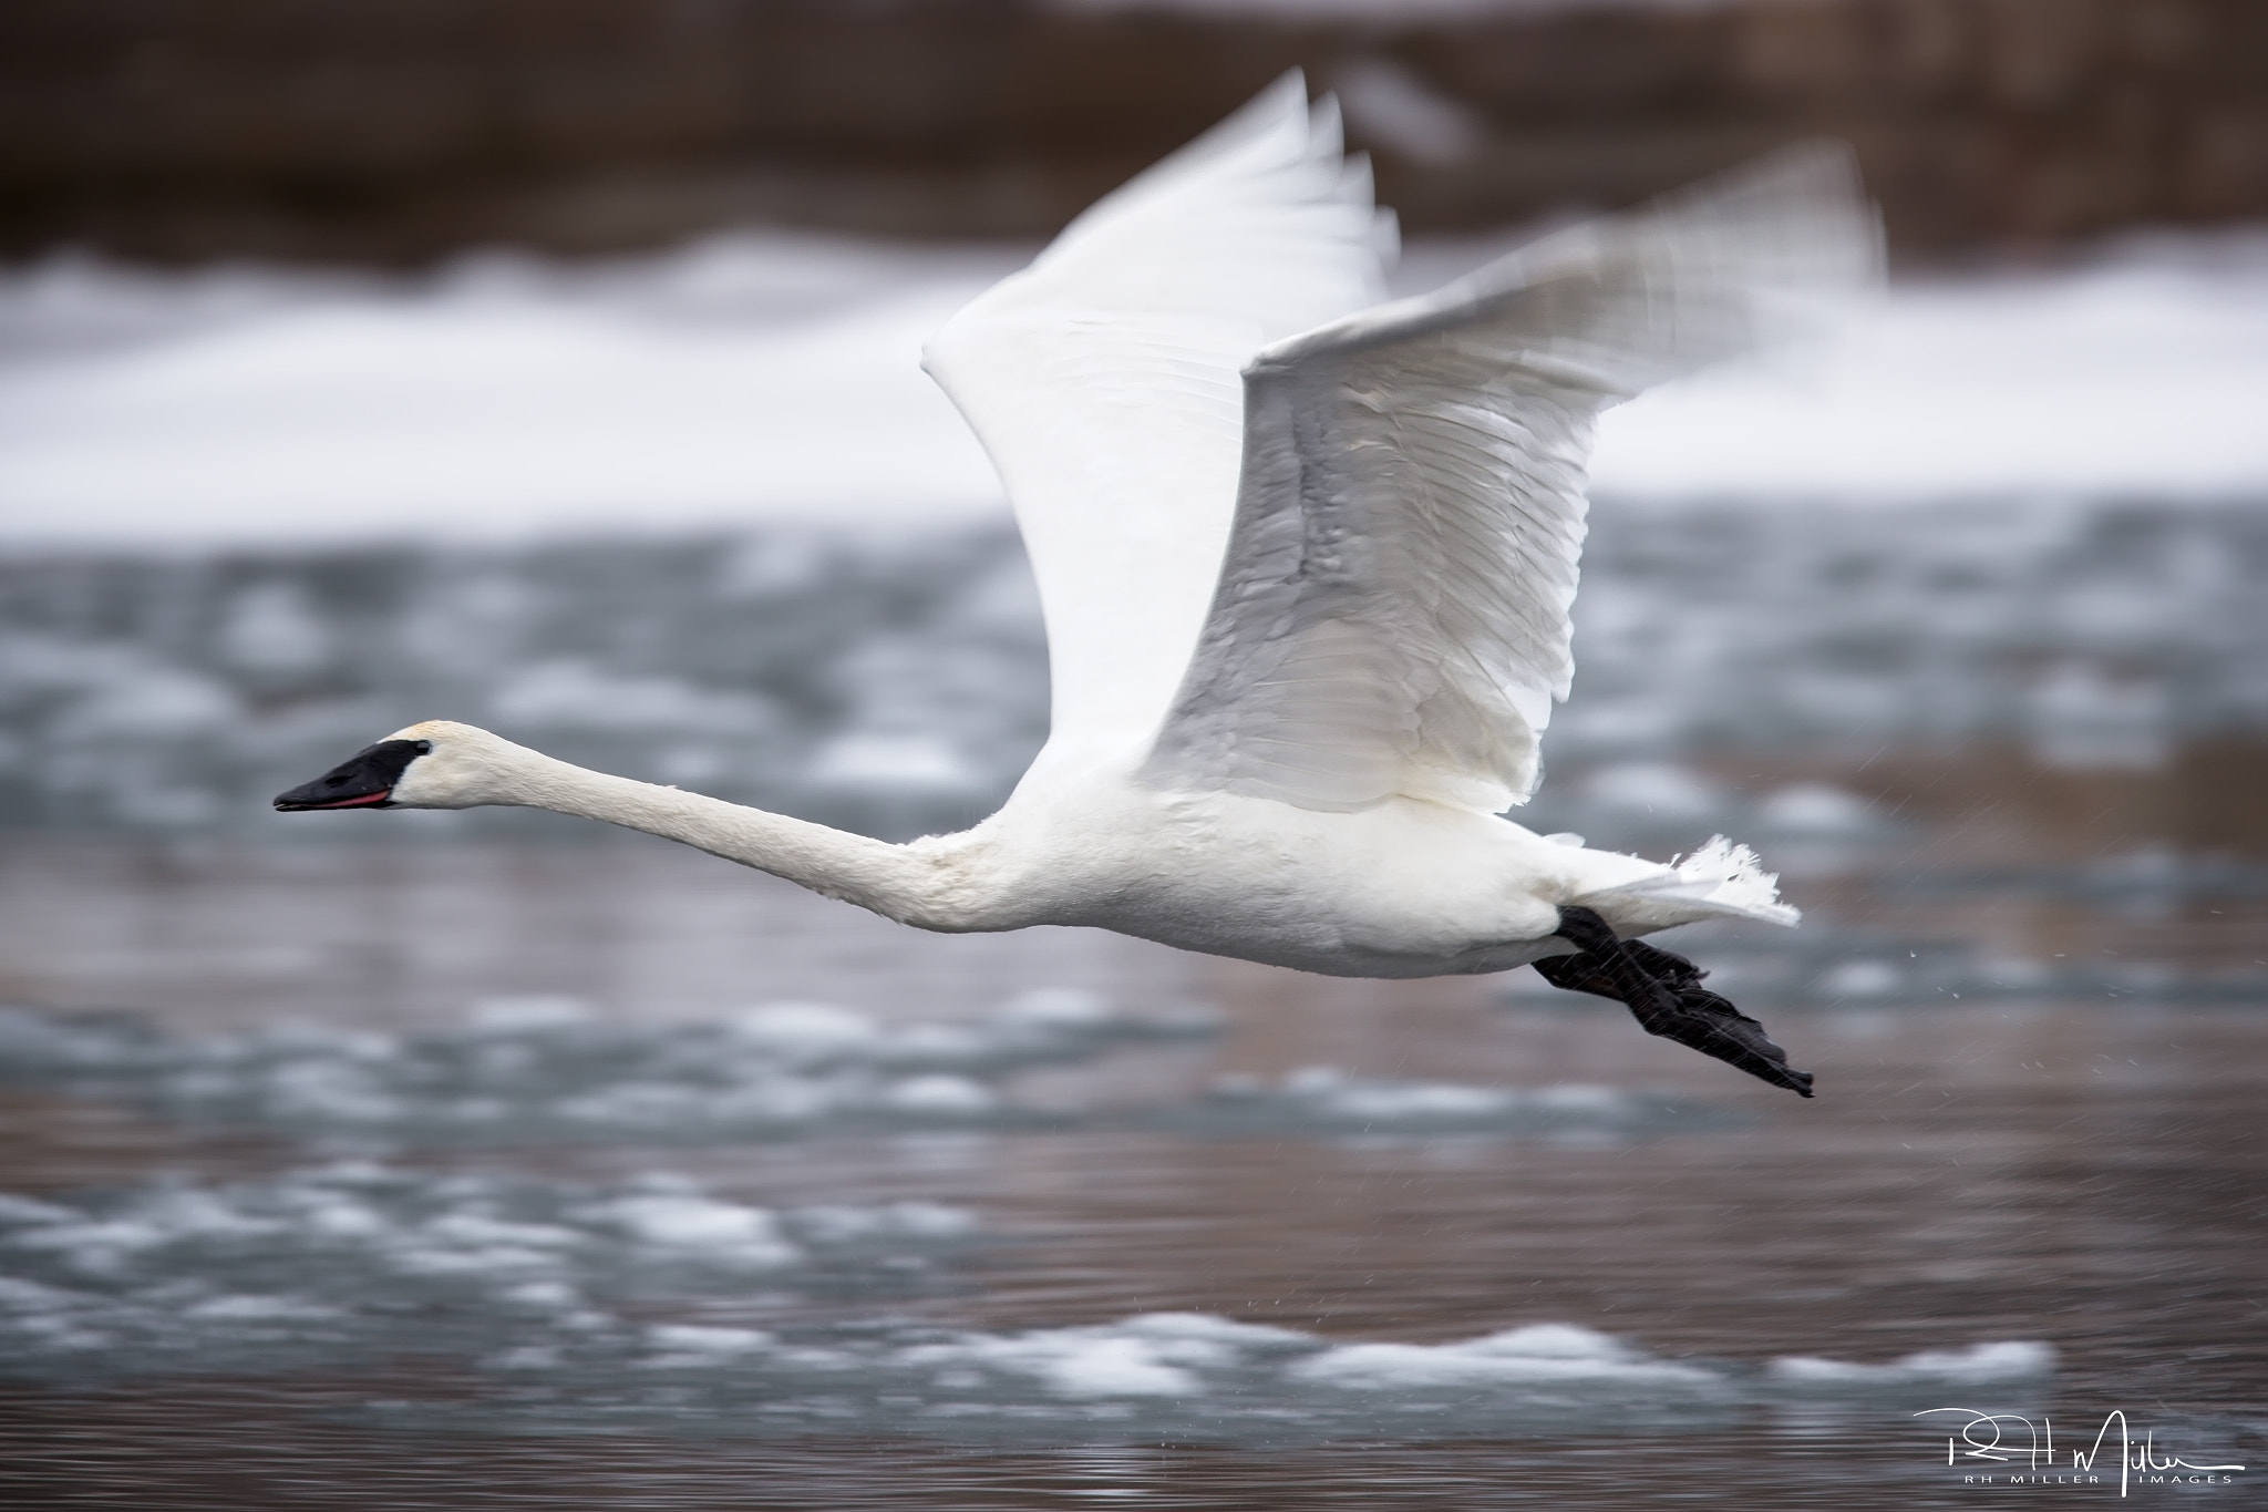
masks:
[[(474, 734), (465, 725), (456, 730)], [(467, 771), (451, 782), (456, 773), (445, 757), (433, 778), (454, 787), (454, 793), (445, 798), (435, 791), (424, 798), (420, 789), (426, 782), (417, 780), (422, 773), (413, 766), (397, 798), (408, 807), (513, 805), (576, 814), (708, 850), (923, 929), (1007, 927), (989, 918), (993, 909), (984, 893), (993, 889), (980, 886), (971, 875), (966, 843), (891, 846), (721, 798), (610, 778), (485, 730), (476, 734), (485, 737), (476, 753), (479, 775)]]

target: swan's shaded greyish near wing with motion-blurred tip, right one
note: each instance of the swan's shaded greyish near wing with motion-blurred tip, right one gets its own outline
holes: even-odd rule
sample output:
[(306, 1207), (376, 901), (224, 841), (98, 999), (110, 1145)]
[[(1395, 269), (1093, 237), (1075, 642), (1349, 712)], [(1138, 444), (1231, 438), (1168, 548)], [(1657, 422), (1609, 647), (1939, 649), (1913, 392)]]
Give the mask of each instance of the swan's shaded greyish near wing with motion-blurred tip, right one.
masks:
[(1581, 224), (1245, 369), (1236, 528), (1143, 771), (1309, 809), (1535, 787), (1599, 413), (1814, 324), (1880, 267), (1848, 152)]

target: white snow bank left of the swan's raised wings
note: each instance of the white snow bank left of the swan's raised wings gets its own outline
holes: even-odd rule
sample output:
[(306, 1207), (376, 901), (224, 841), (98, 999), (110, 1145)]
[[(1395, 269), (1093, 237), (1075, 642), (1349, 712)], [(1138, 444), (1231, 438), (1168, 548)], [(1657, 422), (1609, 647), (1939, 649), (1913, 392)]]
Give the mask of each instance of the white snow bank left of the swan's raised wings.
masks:
[[(277, 297), (18, 358), (0, 365), (0, 517), (50, 540), (374, 540), (998, 508), (919, 354), (1014, 258), (980, 277), (966, 254), (907, 258), (805, 315), (792, 295), (828, 258), (748, 238), (617, 279)], [(655, 297), (701, 261), (780, 297), (692, 315)], [(0, 304), (66, 274), (100, 304), (100, 267), (32, 270)]]

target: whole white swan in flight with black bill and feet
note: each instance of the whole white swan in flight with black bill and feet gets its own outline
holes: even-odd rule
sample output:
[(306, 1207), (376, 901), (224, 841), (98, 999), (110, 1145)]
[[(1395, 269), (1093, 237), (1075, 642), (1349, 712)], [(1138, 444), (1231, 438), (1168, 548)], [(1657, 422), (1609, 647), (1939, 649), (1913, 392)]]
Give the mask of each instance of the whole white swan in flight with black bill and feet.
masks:
[(1340, 977), (1533, 961), (1810, 1097), (1635, 938), (1796, 923), (1744, 846), (1662, 866), (1501, 814), (1574, 671), (1597, 415), (1876, 274), (1848, 154), (1783, 152), (1415, 299), (1383, 301), (1393, 249), (1334, 104), (1288, 75), (930, 340), (1048, 626), (1048, 744), (973, 830), (894, 846), (449, 721), (274, 805), (581, 814), (923, 929), (1093, 925)]

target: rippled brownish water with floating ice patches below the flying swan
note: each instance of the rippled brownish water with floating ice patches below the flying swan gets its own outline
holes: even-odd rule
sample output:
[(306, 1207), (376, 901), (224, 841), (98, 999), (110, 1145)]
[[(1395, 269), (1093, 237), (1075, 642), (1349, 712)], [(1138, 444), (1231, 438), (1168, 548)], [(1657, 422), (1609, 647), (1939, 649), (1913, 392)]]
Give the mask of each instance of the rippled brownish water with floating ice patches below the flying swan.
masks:
[(2252, 873), (1882, 855), (1687, 941), (1796, 1102), (1526, 977), (921, 936), (642, 841), (16, 846), (0, 1492), (1923, 1507), (2050, 1473), (1948, 1467), (1969, 1415), (2071, 1476), (2112, 1410), (2268, 1458)]

